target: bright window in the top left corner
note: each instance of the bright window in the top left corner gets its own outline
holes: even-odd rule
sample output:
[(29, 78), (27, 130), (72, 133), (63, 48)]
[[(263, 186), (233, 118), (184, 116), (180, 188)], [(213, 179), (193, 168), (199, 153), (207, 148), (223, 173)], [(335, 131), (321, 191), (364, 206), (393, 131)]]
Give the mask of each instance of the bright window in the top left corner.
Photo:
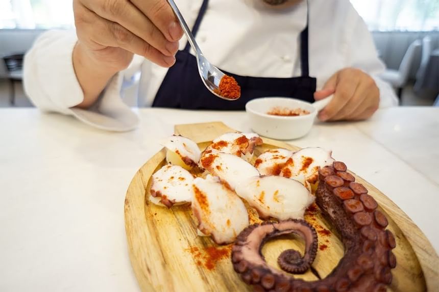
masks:
[(0, 29), (72, 28), (72, 0), (0, 0)]

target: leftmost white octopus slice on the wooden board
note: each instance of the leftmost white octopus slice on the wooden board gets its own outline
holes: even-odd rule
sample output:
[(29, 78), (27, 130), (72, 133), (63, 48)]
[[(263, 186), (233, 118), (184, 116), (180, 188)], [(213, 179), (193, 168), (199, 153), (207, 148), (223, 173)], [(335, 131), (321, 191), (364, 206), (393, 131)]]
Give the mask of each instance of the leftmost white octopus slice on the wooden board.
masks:
[(193, 176), (177, 165), (165, 165), (152, 176), (150, 201), (168, 208), (190, 202)]

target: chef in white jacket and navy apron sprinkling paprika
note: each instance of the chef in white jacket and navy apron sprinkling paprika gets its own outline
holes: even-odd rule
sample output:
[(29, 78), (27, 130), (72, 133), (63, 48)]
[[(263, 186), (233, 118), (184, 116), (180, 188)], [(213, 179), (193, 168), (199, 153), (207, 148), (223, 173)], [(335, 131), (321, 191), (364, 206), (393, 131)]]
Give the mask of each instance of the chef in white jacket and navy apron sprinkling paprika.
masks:
[(175, 2), (205, 57), (241, 86), (237, 101), (204, 87), (166, 0), (74, 0), (76, 34), (46, 32), (26, 55), (26, 93), (43, 111), (110, 130), (137, 126), (122, 100), (136, 82), (139, 107), (243, 110), (257, 97), (313, 102), (334, 94), (319, 119), (335, 121), (397, 104), (349, 0)]

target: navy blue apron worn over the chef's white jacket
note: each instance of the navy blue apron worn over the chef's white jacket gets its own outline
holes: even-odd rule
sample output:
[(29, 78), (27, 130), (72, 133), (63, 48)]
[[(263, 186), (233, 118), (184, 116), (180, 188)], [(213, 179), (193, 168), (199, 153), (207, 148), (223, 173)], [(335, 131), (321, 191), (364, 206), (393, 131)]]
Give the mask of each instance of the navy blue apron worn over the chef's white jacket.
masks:
[[(200, 27), (208, 2), (208, 0), (204, 0), (200, 8), (192, 28), (194, 36)], [(241, 87), (241, 97), (235, 101), (218, 98), (204, 86), (198, 73), (197, 59), (190, 54), (190, 45), (187, 42), (184, 50), (177, 52), (174, 66), (168, 69), (154, 99), (153, 107), (188, 110), (244, 110), (248, 101), (267, 96), (294, 97), (313, 102), (316, 78), (309, 76), (308, 23), (300, 34), (300, 41), (302, 76), (290, 78), (252, 77), (240, 76), (222, 70), (227, 75), (233, 76)]]

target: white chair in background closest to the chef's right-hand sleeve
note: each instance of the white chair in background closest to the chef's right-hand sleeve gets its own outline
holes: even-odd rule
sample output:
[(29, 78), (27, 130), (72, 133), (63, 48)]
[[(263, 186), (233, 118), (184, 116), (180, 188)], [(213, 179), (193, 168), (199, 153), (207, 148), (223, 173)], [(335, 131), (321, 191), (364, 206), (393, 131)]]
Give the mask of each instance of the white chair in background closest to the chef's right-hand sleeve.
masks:
[(398, 70), (387, 69), (380, 74), (380, 77), (392, 84), (394, 88), (398, 89), (398, 97), (401, 99), (402, 89), (407, 82), (410, 67), (413, 62), (413, 57), (417, 50), (421, 47), (421, 41), (415, 40), (412, 42), (405, 52), (404, 58), (402, 58), (401, 64)]

